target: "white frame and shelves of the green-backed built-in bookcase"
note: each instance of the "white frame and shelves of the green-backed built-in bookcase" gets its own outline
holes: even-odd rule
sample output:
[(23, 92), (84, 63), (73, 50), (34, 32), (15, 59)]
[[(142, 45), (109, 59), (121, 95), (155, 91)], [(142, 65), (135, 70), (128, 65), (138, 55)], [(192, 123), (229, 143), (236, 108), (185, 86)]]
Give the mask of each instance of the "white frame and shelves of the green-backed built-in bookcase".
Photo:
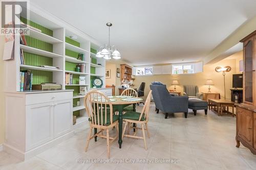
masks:
[[(29, 36), (38, 39), (47, 43), (52, 44), (52, 52), (41, 50), (39, 48), (22, 45), (20, 44), (19, 35), (15, 35), (14, 42), (14, 55), (15, 59), (11, 61), (5, 62), (5, 70), (6, 70), (6, 78), (5, 78), (5, 91), (14, 92), (20, 91), (20, 70), (29, 69), (29, 70), (37, 70), (42, 71), (42, 74), (47, 72), (52, 72), (52, 82), (61, 84), (62, 89), (77, 89), (80, 86), (87, 87), (89, 90), (91, 87), (91, 77), (99, 77), (103, 81), (103, 86), (105, 87), (105, 60), (103, 58), (95, 57), (95, 53), (91, 51), (91, 48), (97, 50), (101, 44), (93, 39), (91, 36), (81, 32), (80, 30), (72, 27), (67, 22), (60, 20), (59, 18), (46, 13), (45, 11), (40, 10), (39, 8), (33, 8), (31, 6), (30, 9), (30, 18), (27, 18), (30, 21), (37, 23), (40, 26), (48, 28), (53, 31), (52, 36), (44, 34), (42, 32), (35, 31), (33, 29), (29, 29)], [(75, 41), (80, 43), (80, 47), (75, 46), (69, 42), (66, 42), (66, 37), (76, 36), (77, 39)], [(35, 54), (44, 56), (47, 58), (51, 58), (52, 66), (59, 67), (59, 69), (53, 68), (45, 68), (40, 67), (39, 65), (29, 65), (20, 64), (20, 49), (25, 53)], [(66, 54), (66, 49), (76, 53), (84, 53), (84, 60), (78, 60), (77, 58), (68, 56)], [(91, 62), (91, 57), (96, 59), (96, 63)], [(33, 59), (31, 59), (33, 60)], [(74, 64), (85, 64), (86, 68), (84, 72), (77, 72), (74, 70), (66, 69), (66, 62), (74, 63)], [(100, 65), (98, 65), (100, 64)], [(91, 67), (95, 68), (95, 72), (91, 72)], [(40, 72), (39, 72), (40, 73)], [(84, 76), (86, 77), (86, 84), (66, 84), (66, 73)], [(46, 74), (47, 75), (47, 74)], [(34, 79), (34, 78), (33, 78)], [(45, 82), (48, 83), (48, 82)], [(28, 92), (28, 91), (27, 91)], [(33, 90), (30, 91), (33, 93)], [(38, 91), (37, 91), (38, 92)], [(80, 111), (80, 117), (86, 116), (85, 109), (83, 106), (83, 98), (84, 95), (74, 94), (73, 99), (79, 100), (80, 106), (75, 106), (73, 103), (73, 111)], [(79, 119), (79, 117), (78, 117)], [(83, 120), (86, 120), (82, 118)], [(81, 121), (77, 121), (81, 122)]]

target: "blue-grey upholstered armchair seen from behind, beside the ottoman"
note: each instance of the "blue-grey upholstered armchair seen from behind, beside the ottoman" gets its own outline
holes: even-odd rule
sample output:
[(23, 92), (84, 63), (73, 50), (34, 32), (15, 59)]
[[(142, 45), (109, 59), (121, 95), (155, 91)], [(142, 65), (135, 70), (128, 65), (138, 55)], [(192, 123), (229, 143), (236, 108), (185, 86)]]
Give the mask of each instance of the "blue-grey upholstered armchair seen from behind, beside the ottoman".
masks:
[(157, 113), (159, 110), (165, 113), (165, 118), (168, 113), (185, 113), (187, 118), (188, 112), (188, 97), (187, 96), (173, 96), (169, 94), (166, 85), (150, 85), (152, 90), (153, 99), (155, 101)]

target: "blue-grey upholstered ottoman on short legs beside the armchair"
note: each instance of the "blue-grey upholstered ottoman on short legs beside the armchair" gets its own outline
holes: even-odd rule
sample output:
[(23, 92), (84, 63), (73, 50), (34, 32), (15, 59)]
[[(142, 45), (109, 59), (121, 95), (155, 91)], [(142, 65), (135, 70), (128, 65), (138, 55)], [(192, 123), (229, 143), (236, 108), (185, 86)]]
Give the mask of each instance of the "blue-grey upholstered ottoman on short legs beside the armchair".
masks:
[(190, 98), (188, 99), (188, 108), (194, 111), (194, 115), (197, 115), (197, 110), (204, 110), (204, 113), (207, 114), (208, 102), (201, 99)]

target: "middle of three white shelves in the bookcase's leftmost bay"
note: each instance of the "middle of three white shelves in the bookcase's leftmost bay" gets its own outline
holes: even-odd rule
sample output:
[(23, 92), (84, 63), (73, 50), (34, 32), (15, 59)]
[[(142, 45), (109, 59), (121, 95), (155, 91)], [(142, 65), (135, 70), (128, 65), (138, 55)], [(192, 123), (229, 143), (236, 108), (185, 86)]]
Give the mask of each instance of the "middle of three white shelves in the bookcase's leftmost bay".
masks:
[(50, 58), (63, 57), (63, 56), (61, 56), (59, 54), (56, 54), (56, 53), (47, 52), (47, 51), (40, 50), (38, 48), (34, 48), (34, 47), (23, 45), (23, 44), (20, 44), (20, 48), (24, 52), (37, 54), (37, 55), (40, 55), (40, 56), (45, 56), (45, 57), (50, 57)]

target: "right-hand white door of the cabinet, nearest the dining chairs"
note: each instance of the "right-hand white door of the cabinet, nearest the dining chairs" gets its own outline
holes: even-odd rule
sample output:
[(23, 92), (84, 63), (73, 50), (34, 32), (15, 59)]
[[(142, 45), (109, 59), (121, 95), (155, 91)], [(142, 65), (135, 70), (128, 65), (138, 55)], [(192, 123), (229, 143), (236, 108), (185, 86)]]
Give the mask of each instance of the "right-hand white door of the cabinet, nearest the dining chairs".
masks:
[(73, 128), (72, 100), (54, 102), (54, 138)]

